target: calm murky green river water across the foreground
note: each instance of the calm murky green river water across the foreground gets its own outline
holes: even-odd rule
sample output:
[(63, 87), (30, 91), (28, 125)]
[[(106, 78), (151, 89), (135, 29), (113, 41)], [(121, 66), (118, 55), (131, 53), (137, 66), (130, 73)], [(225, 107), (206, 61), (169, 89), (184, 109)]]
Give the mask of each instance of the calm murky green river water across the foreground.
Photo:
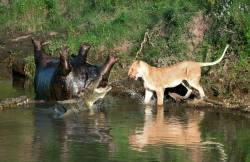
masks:
[[(0, 80), (1, 98), (27, 93)], [(0, 112), (0, 161), (250, 161), (250, 119), (210, 108), (144, 106), (109, 95), (54, 118), (52, 105)]]

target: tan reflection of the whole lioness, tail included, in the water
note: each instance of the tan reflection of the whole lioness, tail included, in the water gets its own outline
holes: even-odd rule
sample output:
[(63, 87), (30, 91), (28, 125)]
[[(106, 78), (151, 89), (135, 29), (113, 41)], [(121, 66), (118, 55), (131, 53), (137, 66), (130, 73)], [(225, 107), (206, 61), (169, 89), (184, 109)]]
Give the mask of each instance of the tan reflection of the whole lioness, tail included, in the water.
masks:
[(215, 145), (221, 154), (220, 159), (226, 160), (227, 156), (222, 144), (202, 142), (200, 122), (204, 119), (204, 112), (190, 110), (184, 114), (185, 116), (180, 116), (175, 111), (171, 111), (166, 112), (164, 116), (164, 108), (157, 108), (156, 115), (153, 115), (152, 111), (152, 107), (146, 106), (143, 128), (137, 128), (129, 136), (129, 143), (133, 149), (142, 151), (144, 147), (150, 145), (184, 147), (191, 161), (200, 162), (204, 156), (204, 145)]

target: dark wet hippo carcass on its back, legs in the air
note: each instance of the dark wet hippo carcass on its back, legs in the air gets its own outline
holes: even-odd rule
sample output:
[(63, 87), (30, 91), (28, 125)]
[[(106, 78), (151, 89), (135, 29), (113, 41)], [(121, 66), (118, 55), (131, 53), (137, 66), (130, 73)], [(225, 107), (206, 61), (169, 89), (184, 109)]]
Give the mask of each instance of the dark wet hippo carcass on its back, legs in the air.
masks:
[(108, 78), (116, 56), (110, 55), (102, 66), (86, 62), (90, 45), (80, 46), (78, 55), (69, 58), (67, 49), (62, 49), (60, 58), (44, 54), (40, 41), (32, 39), (35, 58), (35, 93), (39, 100), (67, 100), (84, 92), (92, 82), (99, 79), (97, 87), (108, 85)]

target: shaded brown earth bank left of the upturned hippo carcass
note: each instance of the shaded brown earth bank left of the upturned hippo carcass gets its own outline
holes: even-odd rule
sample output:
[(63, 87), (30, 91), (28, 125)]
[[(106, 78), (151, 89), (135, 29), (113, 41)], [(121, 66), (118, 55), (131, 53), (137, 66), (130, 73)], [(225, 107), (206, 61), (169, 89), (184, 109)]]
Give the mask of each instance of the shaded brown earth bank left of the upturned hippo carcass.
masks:
[[(34, 59), (31, 38), (39, 38), (44, 44), (57, 37), (57, 32), (7, 33), (0, 35), (0, 66), (24, 78), (33, 78)], [(61, 34), (60, 37), (64, 36)]]

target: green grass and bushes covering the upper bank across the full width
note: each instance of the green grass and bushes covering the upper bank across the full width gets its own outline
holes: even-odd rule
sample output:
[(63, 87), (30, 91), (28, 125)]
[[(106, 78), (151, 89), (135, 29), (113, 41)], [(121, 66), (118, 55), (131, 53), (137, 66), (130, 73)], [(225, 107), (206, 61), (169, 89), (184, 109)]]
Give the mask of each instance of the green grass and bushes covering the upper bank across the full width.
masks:
[(80, 43), (89, 42), (94, 59), (117, 51), (125, 67), (135, 59), (146, 31), (150, 38), (139, 57), (157, 66), (212, 61), (230, 44), (229, 61), (216, 69), (218, 76), (240, 78), (249, 87), (249, 11), (248, 0), (12, 0), (0, 3), (0, 31), (38, 36), (55, 31), (59, 34), (46, 49), (51, 55), (61, 45), (76, 53)]

